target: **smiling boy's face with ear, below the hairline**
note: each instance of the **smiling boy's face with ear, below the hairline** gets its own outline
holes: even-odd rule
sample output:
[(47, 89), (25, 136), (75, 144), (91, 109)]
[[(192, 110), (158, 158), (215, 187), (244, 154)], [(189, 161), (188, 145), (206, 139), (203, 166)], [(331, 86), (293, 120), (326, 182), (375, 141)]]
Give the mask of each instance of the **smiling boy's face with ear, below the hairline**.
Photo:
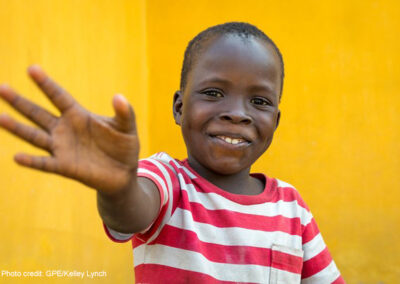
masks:
[(279, 122), (279, 57), (252, 37), (227, 35), (204, 45), (174, 98), (189, 163), (199, 172), (248, 172)]

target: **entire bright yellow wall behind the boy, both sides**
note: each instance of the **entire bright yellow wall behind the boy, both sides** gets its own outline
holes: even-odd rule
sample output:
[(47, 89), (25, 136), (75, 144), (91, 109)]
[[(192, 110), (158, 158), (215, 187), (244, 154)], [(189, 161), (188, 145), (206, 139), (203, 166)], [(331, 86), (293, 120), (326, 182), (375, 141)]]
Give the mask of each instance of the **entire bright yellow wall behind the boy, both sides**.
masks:
[[(36, 62), (95, 112), (111, 115), (111, 96), (126, 94), (142, 157), (185, 157), (171, 102), (187, 42), (225, 21), (259, 26), (281, 48), (287, 75), (281, 125), (254, 171), (299, 189), (348, 283), (398, 283), (398, 1), (0, 0), (0, 7), (0, 82), (51, 107), (25, 76)], [(99, 283), (132, 283), (130, 245), (106, 239), (94, 192), (22, 170), (13, 153), (37, 151), (2, 132), (0, 149), (0, 270), (105, 270)]]

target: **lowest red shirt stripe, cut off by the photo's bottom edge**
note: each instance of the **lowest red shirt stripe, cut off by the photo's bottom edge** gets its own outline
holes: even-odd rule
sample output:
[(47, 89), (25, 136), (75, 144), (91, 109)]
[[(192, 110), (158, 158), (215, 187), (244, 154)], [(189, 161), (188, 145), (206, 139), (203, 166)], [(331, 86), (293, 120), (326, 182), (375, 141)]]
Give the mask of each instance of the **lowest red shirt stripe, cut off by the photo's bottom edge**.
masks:
[[(162, 279), (162, 280), (161, 280)], [(237, 282), (221, 281), (207, 274), (188, 271), (178, 268), (173, 268), (158, 264), (141, 264), (135, 267), (135, 282), (136, 283), (204, 283), (204, 284), (234, 284)], [(241, 282), (246, 284), (244, 282)]]

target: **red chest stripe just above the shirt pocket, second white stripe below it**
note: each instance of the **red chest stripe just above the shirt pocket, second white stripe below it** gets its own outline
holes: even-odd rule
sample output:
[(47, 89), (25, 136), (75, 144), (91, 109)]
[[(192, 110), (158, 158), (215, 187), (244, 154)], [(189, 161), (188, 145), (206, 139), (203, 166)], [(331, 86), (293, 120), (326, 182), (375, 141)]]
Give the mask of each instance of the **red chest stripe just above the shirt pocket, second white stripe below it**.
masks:
[(208, 210), (202, 204), (190, 202), (187, 192), (182, 191), (182, 202), (179, 208), (192, 212), (194, 221), (210, 224), (219, 228), (240, 227), (266, 232), (280, 231), (290, 235), (301, 236), (303, 227), (300, 218), (278, 216), (261, 216), (230, 210)]

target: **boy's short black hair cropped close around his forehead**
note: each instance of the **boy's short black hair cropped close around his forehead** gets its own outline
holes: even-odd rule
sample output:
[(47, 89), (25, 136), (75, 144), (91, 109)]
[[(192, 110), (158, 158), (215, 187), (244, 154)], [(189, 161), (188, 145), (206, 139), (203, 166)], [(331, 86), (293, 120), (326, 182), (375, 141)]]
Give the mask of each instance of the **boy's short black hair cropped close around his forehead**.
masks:
[(272, 41), (272, 39), (270, 39), (263, 31), (261, 31), (259, 28), (257, 28), (252, 24), (244, 22), (228, 22), (209, 27), (206, 30), (200, 32), (189, 42), (185, 50), (185, 56), (183, 58), (183, 64), (181, 70), (181, 84), (180, 84), (181, 91), (183, 91), (183, 89), (186, 86), (188, 73), (192, 68), (192, 65), (194, 64), (197, 55), (201, 53), (201, 49), (204, 43), (212, 37), (230, 35), (230, 34), (237, 35), (246, 39), (254, 37), (257, 39), (264, 40), (265, 42), (273, 46), (274, 50), (278, 54), (282, 70), (281, 93), (279, 94), (280, 98), (282, 95), (283, 78), (285, 77), (282, 54), (279, 48), (276, 46), (276, 44)]

